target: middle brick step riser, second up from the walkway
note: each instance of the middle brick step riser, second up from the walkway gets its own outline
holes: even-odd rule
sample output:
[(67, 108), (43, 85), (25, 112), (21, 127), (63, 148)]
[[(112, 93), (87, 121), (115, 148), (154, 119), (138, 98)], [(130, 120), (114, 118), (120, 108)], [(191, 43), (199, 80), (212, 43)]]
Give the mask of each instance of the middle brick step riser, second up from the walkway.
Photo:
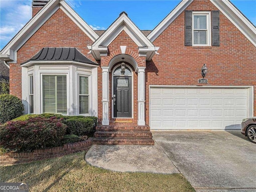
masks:
[(152, 133), (151, 132), (145, 132), (145, 133), (94, 133), (94, 137), (114, 137), (114, 138), (152, 138)]

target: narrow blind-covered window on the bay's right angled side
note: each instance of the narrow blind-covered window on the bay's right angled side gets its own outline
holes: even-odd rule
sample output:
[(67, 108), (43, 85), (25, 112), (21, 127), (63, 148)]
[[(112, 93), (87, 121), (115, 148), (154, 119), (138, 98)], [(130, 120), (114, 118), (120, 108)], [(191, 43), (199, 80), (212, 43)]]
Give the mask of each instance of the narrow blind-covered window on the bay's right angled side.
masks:
[(89, 80), (87, 76), (79, 76), (79, 114), (89, 113)]

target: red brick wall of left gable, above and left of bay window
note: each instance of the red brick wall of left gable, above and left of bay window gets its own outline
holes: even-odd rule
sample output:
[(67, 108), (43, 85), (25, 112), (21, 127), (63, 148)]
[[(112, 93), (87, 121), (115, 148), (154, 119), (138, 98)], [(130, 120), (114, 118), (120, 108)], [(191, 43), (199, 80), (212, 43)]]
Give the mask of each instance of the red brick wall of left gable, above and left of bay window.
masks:
[(61, 10), (46, 21), (30, 39), (18, 50), (17, 63), (10, 64), (10, 94), (22, 98), (21, 67), (43, 47), (76, 47), (86, 57), (96, 62), (87, 45), (93, 41)]

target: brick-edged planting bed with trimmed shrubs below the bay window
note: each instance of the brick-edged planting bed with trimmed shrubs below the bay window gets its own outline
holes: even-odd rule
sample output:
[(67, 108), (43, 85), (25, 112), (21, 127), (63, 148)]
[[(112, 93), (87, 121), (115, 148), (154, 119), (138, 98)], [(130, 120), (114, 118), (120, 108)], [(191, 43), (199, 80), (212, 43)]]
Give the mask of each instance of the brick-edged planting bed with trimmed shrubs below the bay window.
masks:
[(30, 161), (86, 150), (92, 143), (86, 140), (96, 125), (97, 118), (91, 116), (20, 116), (0, 125), (0, 162)]

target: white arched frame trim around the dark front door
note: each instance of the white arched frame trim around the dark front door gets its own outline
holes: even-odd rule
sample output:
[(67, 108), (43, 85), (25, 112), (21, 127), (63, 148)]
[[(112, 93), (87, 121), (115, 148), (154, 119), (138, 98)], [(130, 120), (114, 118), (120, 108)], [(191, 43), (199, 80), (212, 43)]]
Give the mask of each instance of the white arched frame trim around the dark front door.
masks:
[[(113, 94), (114, 94), (114, 71), (116, 70), (116, 68), (118, 68), (118, 67), (120, 67), (121, 66), (121, 64), (119, 64), (119, 65), (116, 65), (113, 69), (112, 69), (112, 72), (111, 72), (111, 84), (112, 84), (112, 88), (111, 88), (111, 100), (112, 100), (112, 119), (114, 119), (114, 103), (113, 103)], [(132, 68), (129, 66), (129, 65), (126, 65), (125, 67), (128, 67), (129, 69), (130, 69), (130, 71), (132, 72), (132, 75), (124, 75), (124, 76), (131, 76), (132, 77), (132, 117), (131, 118), (118, 118), (118, 119), (133, 119), (133, 109), (134, 109), (134, 100), (133, 100), (133, 98), (134, 98), (134, 91), (133, 91), (133, 88), (134, 88), (134, 86), (133, 86), (133, 82), (134, 82), (134, 80), (133, 80), (133, 70), (132, 70)], [(122, 75), (115, 75), (115, 76), (122, 76)]]

